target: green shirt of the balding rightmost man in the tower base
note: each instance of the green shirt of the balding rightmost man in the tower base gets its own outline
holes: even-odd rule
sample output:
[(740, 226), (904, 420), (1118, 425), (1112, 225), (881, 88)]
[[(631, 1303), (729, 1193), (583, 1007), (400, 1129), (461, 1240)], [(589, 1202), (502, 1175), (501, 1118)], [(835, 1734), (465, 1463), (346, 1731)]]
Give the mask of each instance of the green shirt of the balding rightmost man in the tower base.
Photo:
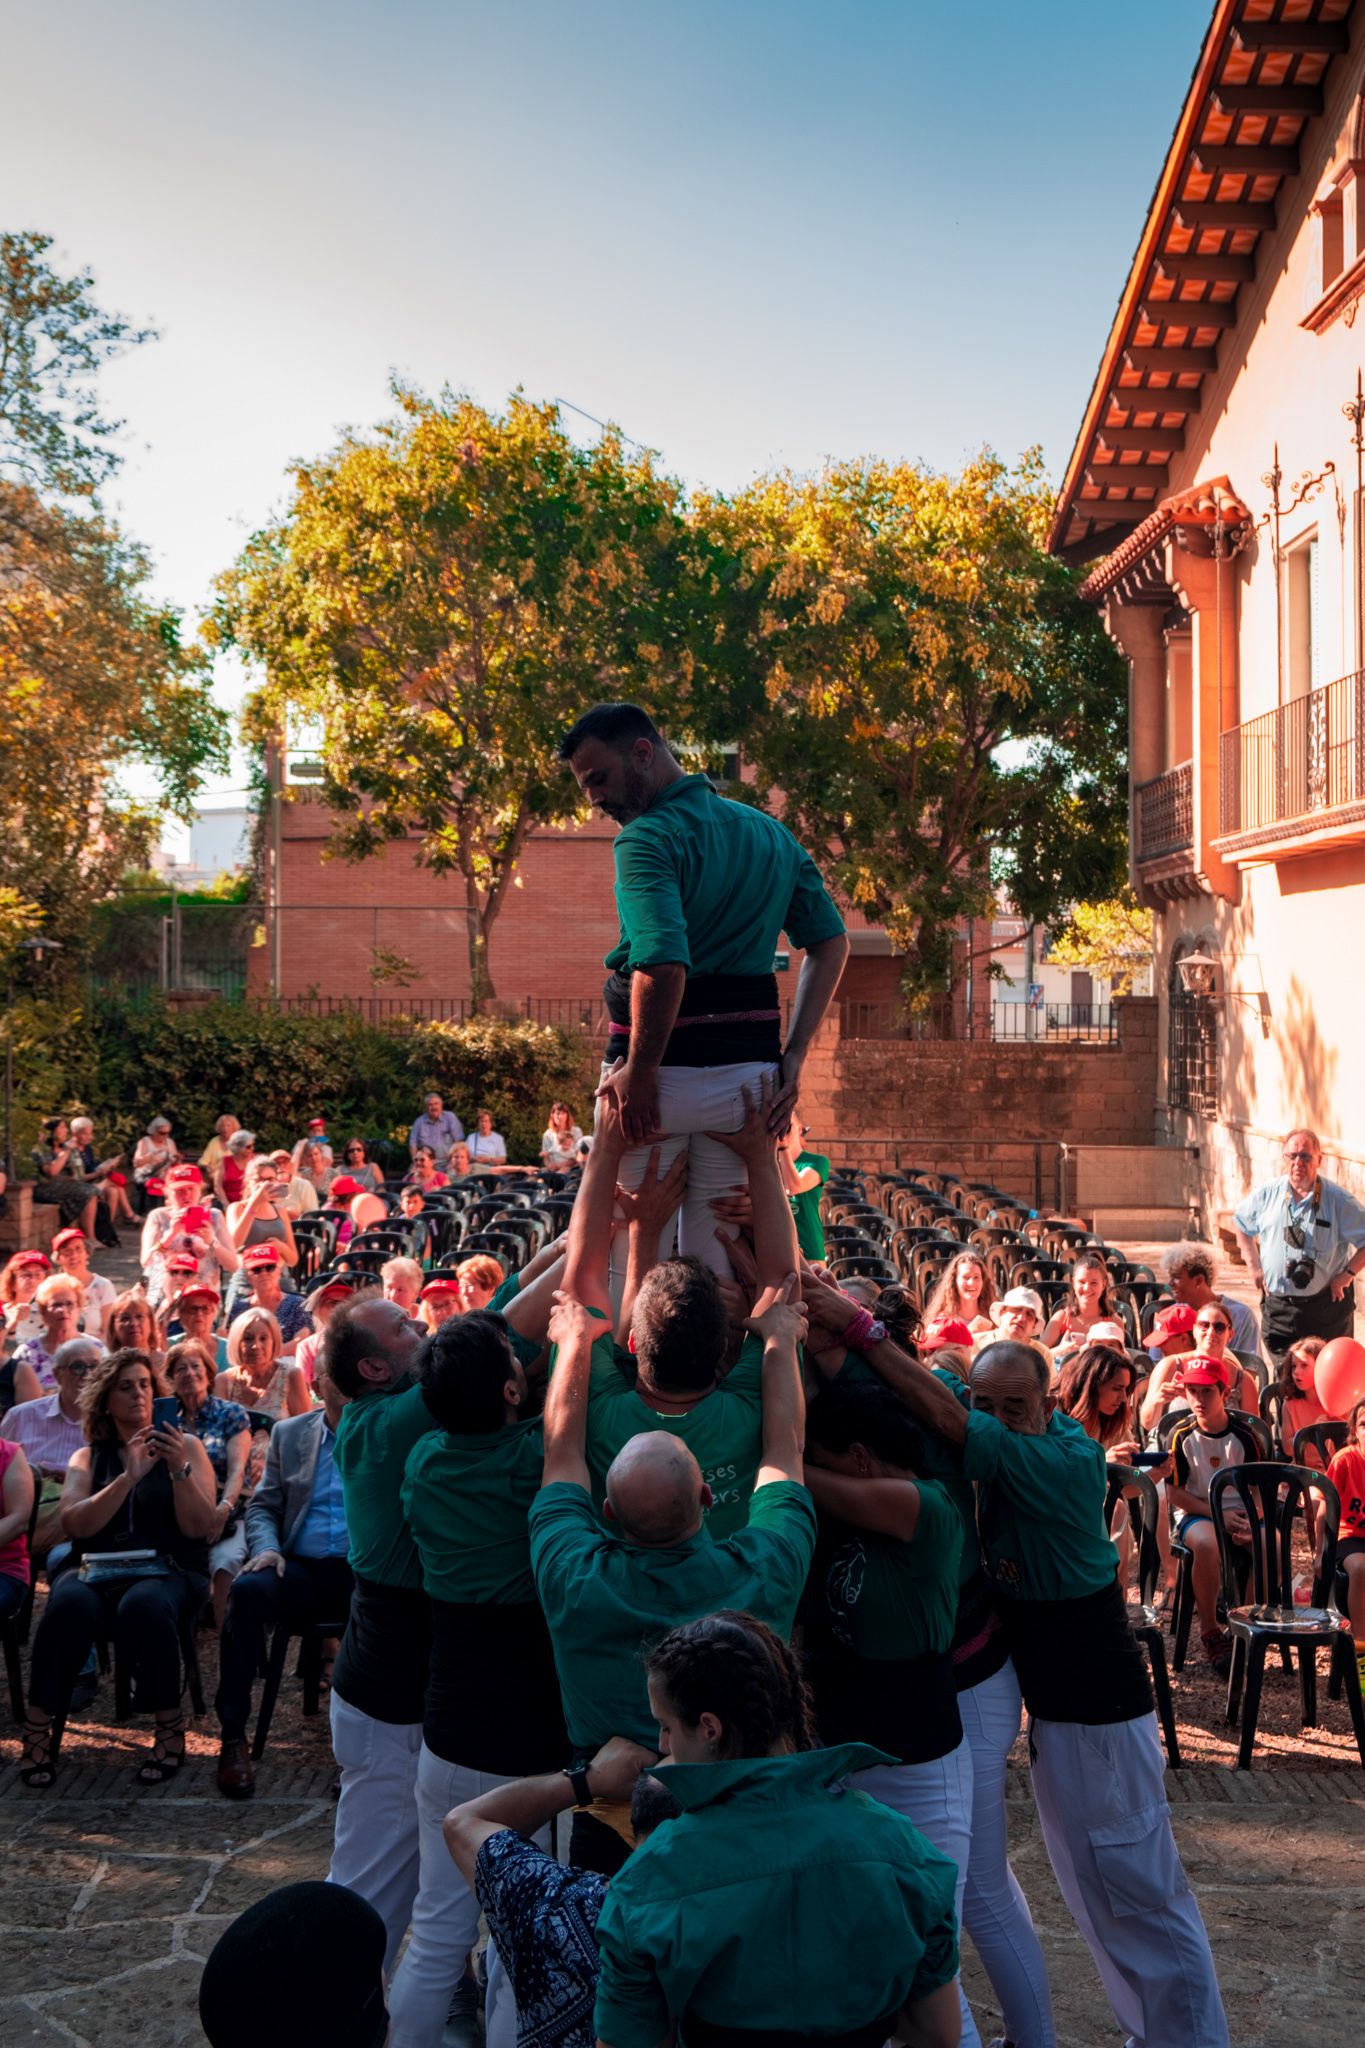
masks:
[(986, 1571), (1015, 1599), (1085, 1599), (1113, 1585), (1105, 1530), (1105, 1454), (1070, 1415), (1019, 1436), (995, 1415), (968, 1415), (962, 1470), (978, 1483)]

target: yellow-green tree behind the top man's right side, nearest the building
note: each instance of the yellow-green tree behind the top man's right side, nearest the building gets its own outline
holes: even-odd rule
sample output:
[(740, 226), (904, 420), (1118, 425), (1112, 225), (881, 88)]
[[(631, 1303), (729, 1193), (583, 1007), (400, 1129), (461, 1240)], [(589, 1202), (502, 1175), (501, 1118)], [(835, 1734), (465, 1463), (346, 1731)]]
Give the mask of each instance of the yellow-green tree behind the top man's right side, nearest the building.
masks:
[(753, 801), (829, 850), (839, 895), (907, 956), (907, 993), (943, 989), (954, 928), (999, 887), (1042, 922), (1121, 872), (1121, 668), (1044, 551), (1048, 510), (1036, 457), (988, 455), (956, 477), (843, 463), (698, 506), (743, 563), (729, 719)]

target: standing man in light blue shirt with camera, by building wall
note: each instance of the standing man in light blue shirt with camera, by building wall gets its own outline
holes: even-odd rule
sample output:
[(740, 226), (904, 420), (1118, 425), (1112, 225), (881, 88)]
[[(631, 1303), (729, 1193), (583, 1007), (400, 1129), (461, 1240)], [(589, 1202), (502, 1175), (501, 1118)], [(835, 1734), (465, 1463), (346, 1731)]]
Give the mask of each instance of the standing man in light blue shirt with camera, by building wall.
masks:
[(1283, 1176), (1252, 1188), (1232, 1217), (1261, 1288), (1261, 1339), (1281, 1358), (1300, 1337), (1349, 1337), (1355, 1276), (1365, 1268), (1365, 1208), (1322, 1176), (1314, 1130), (1291, 1130)]

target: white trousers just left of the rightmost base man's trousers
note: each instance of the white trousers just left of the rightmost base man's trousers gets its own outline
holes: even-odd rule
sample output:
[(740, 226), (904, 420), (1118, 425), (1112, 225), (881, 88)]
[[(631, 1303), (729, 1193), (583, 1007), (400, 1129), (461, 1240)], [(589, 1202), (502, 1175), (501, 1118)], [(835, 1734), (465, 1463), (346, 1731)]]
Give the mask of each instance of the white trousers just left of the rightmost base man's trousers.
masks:
[(1009, 1868), (1005, 1763), (1019, 1735), (1021, 1708), (1013, 1663), (958, 1694), (972, 1749), (972, 1853), (962, 1923), (1001, 2001), (1005, 2038), (1015, 2048), (1056, 2048), (1048, 1964), (1029, 1903)]

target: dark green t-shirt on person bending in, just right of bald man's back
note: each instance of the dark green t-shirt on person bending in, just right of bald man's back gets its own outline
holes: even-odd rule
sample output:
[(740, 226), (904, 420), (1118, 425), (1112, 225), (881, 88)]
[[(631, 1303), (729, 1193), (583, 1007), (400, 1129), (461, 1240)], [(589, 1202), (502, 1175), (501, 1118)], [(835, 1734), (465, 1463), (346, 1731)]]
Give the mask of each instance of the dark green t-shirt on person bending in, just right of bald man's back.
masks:
[(919, 1481), (911, 1542), (831, 1522), (825, 1608), (845, 1649), (868, 1661), (945, 1655), (958, 1620), (962, 1516), (945, 1487)]

